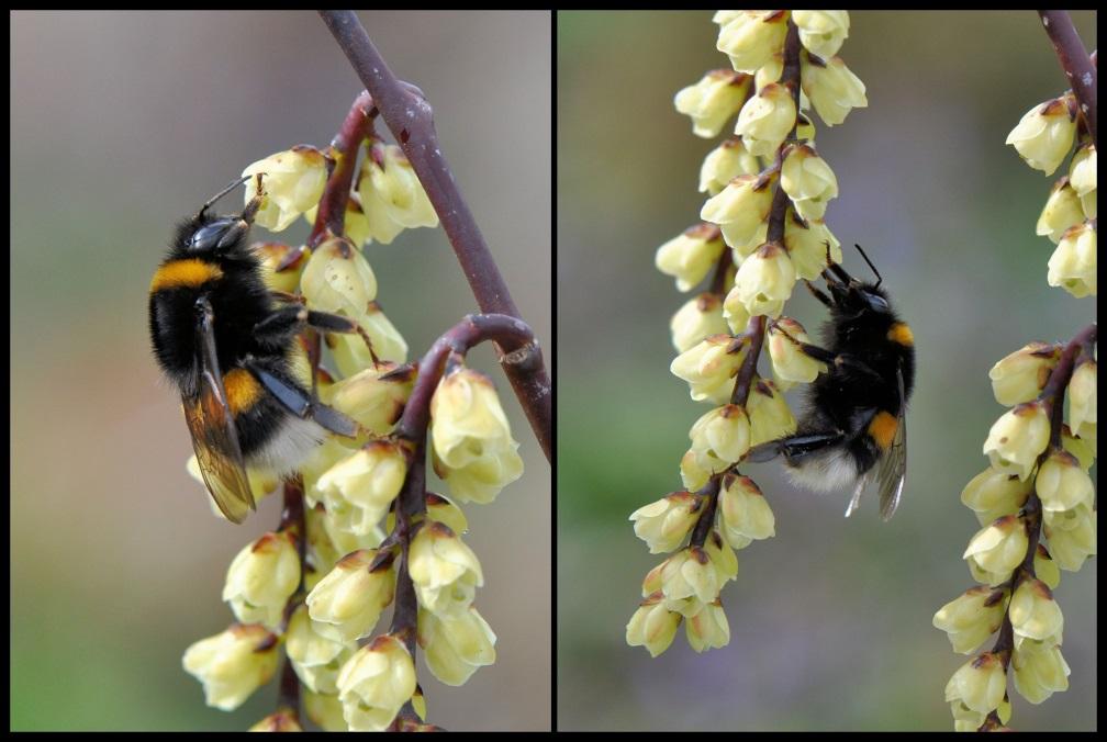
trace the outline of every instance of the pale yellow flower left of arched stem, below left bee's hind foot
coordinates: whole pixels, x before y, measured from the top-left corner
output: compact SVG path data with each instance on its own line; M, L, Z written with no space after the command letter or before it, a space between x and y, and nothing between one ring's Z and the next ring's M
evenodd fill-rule
M318 488L335 516L349 505L350 521L343 530L370 533L389 512L407 475L403 448L386 439L372 440L328 469Z

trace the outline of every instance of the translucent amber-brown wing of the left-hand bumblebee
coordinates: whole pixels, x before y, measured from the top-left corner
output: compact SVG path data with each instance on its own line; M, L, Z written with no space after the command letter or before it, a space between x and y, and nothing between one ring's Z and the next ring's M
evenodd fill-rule
M184 397L182 404L208 492L227 520L241 523L247 513L256 509L254 492L219 373L210 304L205 302L203 310L196 327L199 393L196 397Z

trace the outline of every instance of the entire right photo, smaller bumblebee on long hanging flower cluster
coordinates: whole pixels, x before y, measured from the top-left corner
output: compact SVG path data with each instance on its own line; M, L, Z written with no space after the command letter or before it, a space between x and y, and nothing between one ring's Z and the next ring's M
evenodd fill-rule
M556 728L1095 730L1094 13L556 33Z

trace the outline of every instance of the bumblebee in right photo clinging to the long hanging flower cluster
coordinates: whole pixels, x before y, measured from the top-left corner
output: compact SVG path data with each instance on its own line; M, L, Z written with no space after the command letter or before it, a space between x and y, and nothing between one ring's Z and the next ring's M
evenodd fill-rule
M821 276L829 295L810 282L808 290L830 310L824 327L826 347L800 343L806 355L827 365L808 387L795 435L751 449L747 460L783 456L792 478L814 490L853 485L846 508L857 510L861 492L879 485L880 515L888 520L903 494L907 470L907 401L914 385L914 336L891 307L882 279L862 283L830 261Z

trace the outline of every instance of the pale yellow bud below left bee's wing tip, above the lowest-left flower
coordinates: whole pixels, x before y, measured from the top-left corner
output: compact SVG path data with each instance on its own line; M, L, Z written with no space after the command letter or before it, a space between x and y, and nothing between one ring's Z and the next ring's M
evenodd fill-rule
M292 533L267 533L238 553L227 569L223 599L244 624L280 626L289 597L300 585L300 555Z

